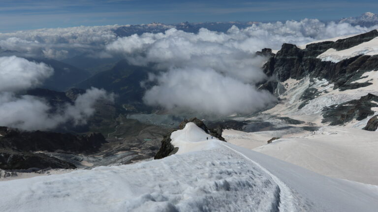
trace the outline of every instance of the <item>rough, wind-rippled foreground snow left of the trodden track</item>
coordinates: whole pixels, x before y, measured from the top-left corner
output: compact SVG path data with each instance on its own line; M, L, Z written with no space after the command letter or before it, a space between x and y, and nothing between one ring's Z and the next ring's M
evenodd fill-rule
M212 150L0 182L3 212L277 211L280 188L235 152Z

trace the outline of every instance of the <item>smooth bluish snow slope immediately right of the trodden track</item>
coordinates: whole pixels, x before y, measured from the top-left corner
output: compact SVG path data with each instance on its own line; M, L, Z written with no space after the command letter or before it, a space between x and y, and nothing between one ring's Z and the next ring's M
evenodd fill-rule
M290 187L294 195L309 200L309 210L305 211L377 212L378 186L325 177L259 152L227 146L267 169Z

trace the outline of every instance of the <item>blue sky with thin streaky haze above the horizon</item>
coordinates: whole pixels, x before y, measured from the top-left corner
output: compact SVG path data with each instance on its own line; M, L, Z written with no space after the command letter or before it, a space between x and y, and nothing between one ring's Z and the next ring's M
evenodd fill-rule
M0 0L0 31L151 22L333 20L377 0Z

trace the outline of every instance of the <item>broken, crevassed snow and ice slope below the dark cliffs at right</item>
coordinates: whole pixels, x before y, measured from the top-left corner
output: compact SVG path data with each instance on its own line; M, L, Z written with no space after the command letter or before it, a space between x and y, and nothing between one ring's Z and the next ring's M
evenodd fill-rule
M263 113L277 115L281 117L289 117L292 119L312 122L317 125L328 125L327 123L321 123L322 109L334 104L341 104L353 99L359 99L361 96L365 96L368 93L378 95L378 71L372 70L363 73L361 79L355 81L355 83L370 82L372 85L361 87L353 90L340 91L334 90L334 85L328 82L326 79L318 80L314 79L314 82L310 82L308 77L301 80L288 79L284 82L280 82L285 88L283 93L279 93L281 100L273 108L270 108ZM319 92L319 96L310 100L304 107L298 109L303 100L302 94L308 88L316 89ZM367 121L367 120L365 120ZM359 128L363 128L360 126Z

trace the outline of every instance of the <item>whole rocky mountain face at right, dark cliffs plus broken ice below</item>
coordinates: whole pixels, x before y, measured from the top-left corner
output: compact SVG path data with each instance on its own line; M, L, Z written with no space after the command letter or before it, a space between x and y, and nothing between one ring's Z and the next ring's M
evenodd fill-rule
M270 77L270 80L262 83L259 88L270 91L279 97L279 100L286 102L288 105L285 107L290 107L293 104L289 104L289 100L283 96L288 92L296 92L291 93L299 97L296 97L295 100L297 108L291 109L292 112L308 114L309 111L316 112L317 109L314 107L321 107L319 109L322 114L322 123L339 125L353 120L367 119L375 115L372 108L377 107L378 99L377 93L368 93L371 89L365 89L365 87L376 86L373 85L374 79L368 78L369 76L366 74L378 70L378 55L366 55L361 52L354 57L340 61L322 60L318 56L330 49L349 51L350 48L377 37L378 31L373 30L336 41L310 43L305 47L283 44L281 50L276 54L273 54L270 49L263 49L257 54L268 58L263 66L263 71ZM297 83L288 85L290 80ZM305 81L309 82L307 86L304 84ZM320 82L325 82L325 84ZM316 87L316 85L318 86ZM291 88L289 88L290 86ZM295 90L301 86L303 91ZM287 91L287 89L291 90ZM331 91L335 92L325 96ZM373 89L373 91L375 90ZM347 97L349 99L343 102L343 99L338 99L341 95L349 96ZM318 103L314 103L315 100ZM312 101L312 106L305 108ZM336 103L330 104L332 101L336 101ZM324 106L320 106L322 104ZM302 108L306 111L301 112Z

